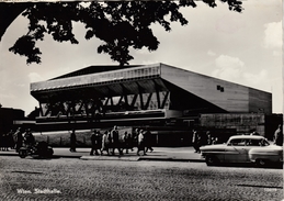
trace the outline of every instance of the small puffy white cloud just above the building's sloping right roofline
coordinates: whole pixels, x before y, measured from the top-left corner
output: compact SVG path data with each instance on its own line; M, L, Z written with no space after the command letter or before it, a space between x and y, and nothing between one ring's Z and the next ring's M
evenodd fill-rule
M229 81L238 81L245 68L245 64L237 57L220 55L215 59L217 69L212 72L213 77Z

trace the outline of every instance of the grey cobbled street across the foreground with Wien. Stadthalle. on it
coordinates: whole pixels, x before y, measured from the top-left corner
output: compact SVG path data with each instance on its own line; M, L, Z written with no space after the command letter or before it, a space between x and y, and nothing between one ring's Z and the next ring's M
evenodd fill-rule
M1 200L281 201L283 169L1 156Z

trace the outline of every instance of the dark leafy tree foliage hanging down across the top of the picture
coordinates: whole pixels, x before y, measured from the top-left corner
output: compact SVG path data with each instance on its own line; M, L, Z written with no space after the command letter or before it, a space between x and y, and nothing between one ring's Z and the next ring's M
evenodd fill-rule
M242 11L239 0L220 1L228 3L229 10ZM203 2L212 8L217 5L215 0ZM194 0L26 3L22 14L30 20L29 32L9 51L26 56L27 64L39 64L42 52L35 46L36 42L50 34L57 42L78 44L72 22L81 22L86 26L86 40L95 36L103 41L98 53L109 54L112 60L126 65L133 59L129 47L146 47L150 52L158 48L159 41L150 29L152 23L160 24L166 31L171 30L170 22L188 24L179 11L182 7L195 8L196 4Z

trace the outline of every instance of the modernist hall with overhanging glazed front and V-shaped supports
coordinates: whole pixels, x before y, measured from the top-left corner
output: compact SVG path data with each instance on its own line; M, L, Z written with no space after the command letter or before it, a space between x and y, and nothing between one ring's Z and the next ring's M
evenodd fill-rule
M90 66L31 83L31 94L41 108L37 124L50 130L184 125L205 113L272 113L269 92L164 64Z

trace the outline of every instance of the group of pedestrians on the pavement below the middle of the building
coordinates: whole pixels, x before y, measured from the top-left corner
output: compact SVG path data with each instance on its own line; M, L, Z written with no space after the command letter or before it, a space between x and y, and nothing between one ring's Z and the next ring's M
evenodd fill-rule
M107 155L115 155L117 149L120 155L128 154L129 150L134 150L137 147L137 155L146 155L148 150L152 152L151 147L151 133L150 131L136 129L133 133L126 131L121 136L115 125L112 130L105 131L103 135L99 131L94 131L91 135L92 147L90 155L103 155L106 152Z

